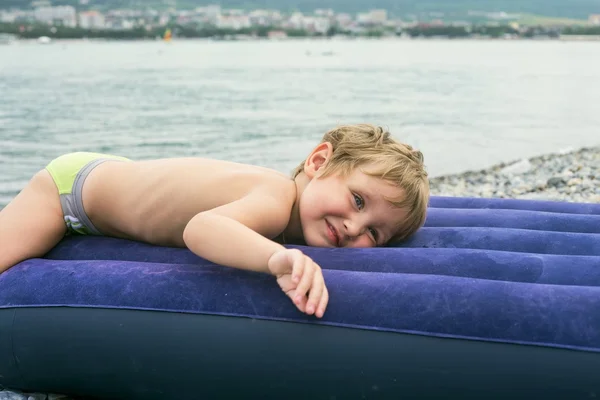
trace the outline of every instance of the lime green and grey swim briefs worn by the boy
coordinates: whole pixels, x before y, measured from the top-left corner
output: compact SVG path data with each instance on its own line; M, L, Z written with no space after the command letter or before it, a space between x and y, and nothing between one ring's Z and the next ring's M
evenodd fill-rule
M83 209L83 183L94 168L105 161L130 161L101 153L69 153L52 160L46 170L58 187L67 233L101 235Z

